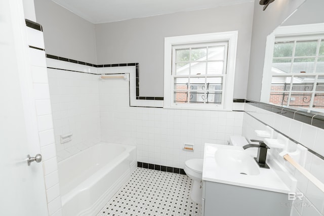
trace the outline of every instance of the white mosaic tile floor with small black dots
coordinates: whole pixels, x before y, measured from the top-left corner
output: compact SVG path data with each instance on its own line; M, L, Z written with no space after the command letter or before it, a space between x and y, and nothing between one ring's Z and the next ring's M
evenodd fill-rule
M186 175L137 167L97 216L200 216L201 205L190 199L191 184Z

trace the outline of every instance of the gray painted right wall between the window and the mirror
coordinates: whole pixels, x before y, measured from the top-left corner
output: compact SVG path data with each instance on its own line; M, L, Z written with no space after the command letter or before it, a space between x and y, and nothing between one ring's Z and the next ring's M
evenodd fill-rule
M312 1L312 0L308 0ZM247 98L260 101L266 37L305 0L275 1L262 11L255 1Z

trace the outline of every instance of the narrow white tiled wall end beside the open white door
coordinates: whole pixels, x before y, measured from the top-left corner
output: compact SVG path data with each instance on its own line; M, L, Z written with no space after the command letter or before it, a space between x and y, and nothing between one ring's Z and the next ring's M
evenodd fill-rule
M28 45L44 49L43 32L29 27L26 29ZM35 99L49 215L62 216L46 56L44 51L33 48L29 48L29 54L33 87L30 91Z

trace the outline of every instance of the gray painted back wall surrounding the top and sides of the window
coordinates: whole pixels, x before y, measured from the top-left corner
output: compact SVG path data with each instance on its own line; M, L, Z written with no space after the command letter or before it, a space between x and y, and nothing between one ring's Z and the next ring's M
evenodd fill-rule
M139 62L140 96L163 97L164 37L238 30L234 98L246 98L253 8L251 2L97 24L98 64Z

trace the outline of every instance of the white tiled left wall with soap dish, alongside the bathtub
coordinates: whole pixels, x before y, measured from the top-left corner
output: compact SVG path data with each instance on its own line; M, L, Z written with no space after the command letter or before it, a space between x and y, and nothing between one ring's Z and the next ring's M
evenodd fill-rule
M57 160L61 161L100 141L99 77L58 69L48 69L48 77ZM69 133L72 140L62 144L60 136Z

